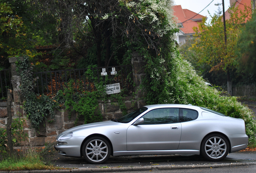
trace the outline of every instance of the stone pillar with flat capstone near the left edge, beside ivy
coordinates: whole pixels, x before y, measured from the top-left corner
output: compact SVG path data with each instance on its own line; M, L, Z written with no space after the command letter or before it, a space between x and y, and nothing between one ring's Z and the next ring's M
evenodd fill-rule
M21 61L24 61L24 58L23 57L19 57L21 59ZM17 71L16 71L16 64L15 62L17 61L17 57L12 57L12 58L9 58L9 62L10 62L10 68L11 68L11 75L12 75L12 78L11 78L11 81L12 81L12 88L13 88L13 91L12 91L12 95L13 95L13 99L14 99L14 104L15 105L19 105L21 104L20 102L20 99L19 99L19 91L20 91L20 84L21 84L21 76L18 75Z

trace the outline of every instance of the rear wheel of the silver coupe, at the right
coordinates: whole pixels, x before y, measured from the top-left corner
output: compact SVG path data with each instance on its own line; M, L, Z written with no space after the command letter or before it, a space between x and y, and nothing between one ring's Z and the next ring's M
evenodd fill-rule
M212 134L205 137L201 145L202 156L209 161L221 161L229 153L229 142L223 135Z

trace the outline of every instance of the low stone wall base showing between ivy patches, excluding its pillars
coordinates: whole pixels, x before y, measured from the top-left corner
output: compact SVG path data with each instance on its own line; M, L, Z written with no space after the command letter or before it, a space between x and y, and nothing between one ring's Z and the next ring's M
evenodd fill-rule
M118 106L116 100L114 101L99 101L98 110L102 115L103 121L108 121L113 118L122 117L122 111ZM138 107L143 106L142 101L135 100L134 97L126 97L124 103L127 108L127 112L130 113L137 109ZM68 130L72 127L75 127L74 121L77 118L75 112L71 113L69 116L69 111L65 110L65 107L62 107L60 110L55 110L55 118L51 119L48 116L44 123L39 126L39 129L31 128L29 119L25 121L25 132L29 135L29 143L32 146L42 146L46 142L55 143L56 137L58 134L62 133L65 130ZM98 111L96 111L98 112ZM95 114L96 114L95 112ZM13 118L23 117L23 109L20 106L15 106L14 102L12 103L12 116ZM25 118L26 116L24 116ZM76 125L82 125L83 116L80 116ZM6 102L0 102L0 128L5 128L7 124L7 104Z

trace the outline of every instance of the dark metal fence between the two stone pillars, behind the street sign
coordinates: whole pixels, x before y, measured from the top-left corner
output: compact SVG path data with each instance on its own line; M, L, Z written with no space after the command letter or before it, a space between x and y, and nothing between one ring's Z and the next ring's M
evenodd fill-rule
M56 94L59 90L63 90L71 79L73 79L74 89L82 85L84 91L92 91L95 89L95 81L88 76L97 78L99 82L105 80L104 74L107 74L110 79L108 84L120 83L121 89L127 89L128 93L133 91L132 66L130 65L90 68L92 74L85 75L87 70L88 68L35 72L33 73L33 77L36 78L35 93Z

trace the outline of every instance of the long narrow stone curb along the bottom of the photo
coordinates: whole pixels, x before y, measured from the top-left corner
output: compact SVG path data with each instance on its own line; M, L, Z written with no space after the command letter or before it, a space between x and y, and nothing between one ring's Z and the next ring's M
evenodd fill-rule
M31 170L31 171L11 171L12 173L103 173L103 172L126 172L126 171L152 171L152 170L171 170L171 169L198 169L198 168L218 168L231 166L250 166L251 163L221 163L212 165L171 165L171 166L146 166L146 167L109 167L109 168L79 168L79 169L57 169L57 170ZM0 171L8 173L10 171Z

